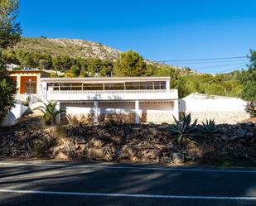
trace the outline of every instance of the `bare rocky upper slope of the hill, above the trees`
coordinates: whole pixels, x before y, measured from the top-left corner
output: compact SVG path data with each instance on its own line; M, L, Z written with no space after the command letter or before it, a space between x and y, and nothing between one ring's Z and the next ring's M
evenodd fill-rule
M22 37L15 50L27 50L49 55L69 55L72 57L95 58L100 60L115 60L121 53L109 46L94 41L53 38Z

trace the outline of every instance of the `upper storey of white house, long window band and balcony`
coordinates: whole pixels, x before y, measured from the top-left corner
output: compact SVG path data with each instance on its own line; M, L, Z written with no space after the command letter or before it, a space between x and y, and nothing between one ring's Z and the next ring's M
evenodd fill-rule
M138 81L138 79L140 79ZM45 82L43 96L48 100L152 100L176 99L177 90L169 89L169 78L94 79L93 82Z

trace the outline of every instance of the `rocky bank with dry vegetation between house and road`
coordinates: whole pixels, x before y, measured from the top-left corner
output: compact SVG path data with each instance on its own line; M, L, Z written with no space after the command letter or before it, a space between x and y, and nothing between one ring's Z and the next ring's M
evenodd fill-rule
M256 123L218 125L220 137L203 137L198 127L193 141L177 144L169 125L107 122L35 129L6 128L0 132L0 158L47 157L133 162L212 164L220 156L256 162ZM224 162L225 163L225 162ZM216 162L216 164L219 164ZM226 163L225 163L226 165Z

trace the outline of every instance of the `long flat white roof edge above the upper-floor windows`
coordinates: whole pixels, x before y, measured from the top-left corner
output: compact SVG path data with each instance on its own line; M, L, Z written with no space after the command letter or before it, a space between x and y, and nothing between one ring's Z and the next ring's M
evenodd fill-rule
M170 80L168 76L153 77L63 77L63 78L41 78L41 82L125 82L125 81L151 81Z

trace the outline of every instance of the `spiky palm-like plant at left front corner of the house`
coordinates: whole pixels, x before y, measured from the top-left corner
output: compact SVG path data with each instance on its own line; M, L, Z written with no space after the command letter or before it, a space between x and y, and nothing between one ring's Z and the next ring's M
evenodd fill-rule
M44 113L43 118L46 121L46 125L50 125L51 123L54 123L56 120L56 116L59 113L65 113L65 108L56 109L57 102L50 101L48 103L42 102L44 105L41 105L37 108L34 108L33 110L40 110L42 113Z

